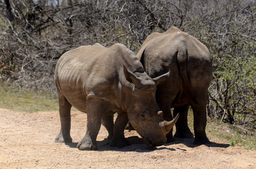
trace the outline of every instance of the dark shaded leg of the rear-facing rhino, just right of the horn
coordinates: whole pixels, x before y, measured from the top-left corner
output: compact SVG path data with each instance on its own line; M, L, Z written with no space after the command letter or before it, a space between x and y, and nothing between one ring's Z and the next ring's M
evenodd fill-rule
M189 107L190 105L186 104L184 106L174 108L173 116L176 116L178 113L180 114L180 118L178 119L177 123L175 123L176 132L174 134L174 137L180 137L180 138L194 137L194 135L190 131L190 128L187 125L187 111Z

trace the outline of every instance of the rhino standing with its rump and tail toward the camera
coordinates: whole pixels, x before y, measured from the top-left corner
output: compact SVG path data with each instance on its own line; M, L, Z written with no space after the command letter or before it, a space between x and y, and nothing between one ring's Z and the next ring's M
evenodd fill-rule
M194 144L209 143L206 137L207 91L212 78L209 50L194 37L177 27L163 33L153 33L146 38L136 55L150 77L158 77L170 70L170 76L156 90L156 101L163 111L163 119L173 119L180 113L175 124L175 137L191 138L187 126L187 111L192 107L194 114ZM173 130L167 134L173 141Z

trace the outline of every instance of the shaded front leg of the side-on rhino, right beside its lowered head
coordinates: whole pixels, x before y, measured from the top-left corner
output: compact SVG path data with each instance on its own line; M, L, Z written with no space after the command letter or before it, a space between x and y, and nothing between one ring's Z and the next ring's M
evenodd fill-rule
M114 125L114 135L110 142L110 146L117 146L121 148L123 146L128 146L127 139L124 137L124 128L128 123L127 112L119 112Z

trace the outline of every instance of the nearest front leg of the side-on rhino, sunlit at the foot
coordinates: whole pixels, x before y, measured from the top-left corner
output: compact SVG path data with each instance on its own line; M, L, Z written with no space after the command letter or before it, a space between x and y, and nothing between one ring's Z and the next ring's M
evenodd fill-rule
M105 108L104 101L102 99L89 98L86 103L87 113L87 129L86 135L81 142L77 144L77 148L80 150L96 150L98 146L96 144L96 138L100 130L101 115Z

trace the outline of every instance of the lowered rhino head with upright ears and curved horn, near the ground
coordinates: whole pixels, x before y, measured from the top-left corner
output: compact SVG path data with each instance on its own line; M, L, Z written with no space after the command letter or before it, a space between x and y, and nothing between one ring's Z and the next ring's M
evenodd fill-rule
M165 135L179 117L170 122L163 120L163 112L156 103L156 87L168 78L169 72L152 79L144 71L132 73L124 68L124 75L129 82L126 102L130 123L148 146L165 144Z

